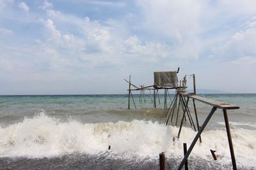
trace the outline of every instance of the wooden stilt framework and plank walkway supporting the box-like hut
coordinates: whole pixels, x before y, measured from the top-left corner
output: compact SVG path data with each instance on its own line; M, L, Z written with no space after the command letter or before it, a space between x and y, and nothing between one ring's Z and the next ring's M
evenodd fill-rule
M178 72L179 72L179 69L178 69L177 73ZM182 108L183 115L182 115L182 120L180 122L179 133L178 133L177 138L179 138L179 136L180 136L180 132L181 132L181 129L182 129L183 122L184 122L184 120L186 120L186 115L188 116L188 119L189 119L189 122L190 122L191 126L193 126L195 131L196 131L196 127L197 127L197 131L198 131L195 138L193 139L191 145L189 146L188 151L184 155L184 159L182 159L182 162L180 162L178 170L181 170L182 167L184 166L184 164L186 164L186 162L188 161L189 154L192 152L192 150L193 150L193 148L196 144L196 141L198 141L198 139L200 139L200 143L202 142L201 134L204 131L206 125L208 124L208 122L211 119L214 112L217 109L223 110L223 116L224 116L224 120L225 120L226 131L227 131L227 138L228 138L228 145L229 145L229 149L230 149L230 156L231 156L231 160L232 160L232 166L233 166L233 169L236 170L237 169L237 167L236 167L236 158L235 158L235 154L234 154L232 136L231 136L231 133L230 133L227 110L237 110L237 109L239 109L239 106L236 106L234 104L228 104L228 103L223 103L223 102L219 102L219 101L214 101L214 100L211 100L211 99L206 99L206 98L200 97L200 96L196 96L195 74L192 74L192 75L193 75L193 90L194 90L193 93L186 93L186 89L187 89L187 87L186 87L186 76L184 77L183 81L180 81L179 87L172 87L172 88L170 88L170 87L157 87L156 85L152 85L152 86L148 86L148 87L143 87L141 85L141 87L136 87L136 85L133 85L131 83L131 76L129 77L129 81L124 79L125 81L127 81L127 83L129 83L128 109L130 109L130 97L132 97L132 91L133 90L140 90L141 94L143 94L143 95L145 94L144 90L154 90L153 103L154 103L154 108L156 108L156 96L158 94L158 90L159 89L164 89L164 109L167 109L167 107L166 107L167 106L167 103L166 103L167 92L168 92L169 89L175 89L175 92L176 92L175 97L174 97L173 100L171 99L170 107L168 108L168 110L165 113L165 117L168 116L167 121L166 121L166 125L168 125L168 121L170 120L171 115L172 115L172 117L171 117L171 122L172 122L173 115L174 115L174 110L175 110L175 108L177 108L177 105L178 105L177 117L176 117L176 122L175 122L176 126L177 126L177 122L178 122L180 108ZM131 89L131 86L134 87L135 89ZM170 94L169 94L169 96L170 96ZM158 97L159 97L159 94L158 94ZM195 127L193 118L192 118L191 113L190 113L189 108L188 108L189 99L193 100L193 108L194 108L194 111L195 111L195 118L196 118L196 127ZM134 103L133 97L132 97L132 101ZM207 118L205 118L205 121L202 124L202 127L200 127L200 125L198 123L195 101L200 101L202 103L205 103L205 104L208 104L208 105L212 106L212 109L211 109L210 113L208 114ZM141 102L141 98L140 98L140 102ZM135 103L134 103L134 107L136 108Z

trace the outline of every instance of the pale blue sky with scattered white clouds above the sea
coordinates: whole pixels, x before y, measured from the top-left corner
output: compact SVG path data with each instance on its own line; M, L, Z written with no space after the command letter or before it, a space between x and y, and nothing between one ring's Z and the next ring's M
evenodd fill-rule
M178 67L256 93L256 1L0 0L0 95L126 94Z

